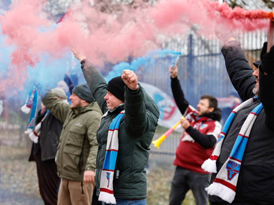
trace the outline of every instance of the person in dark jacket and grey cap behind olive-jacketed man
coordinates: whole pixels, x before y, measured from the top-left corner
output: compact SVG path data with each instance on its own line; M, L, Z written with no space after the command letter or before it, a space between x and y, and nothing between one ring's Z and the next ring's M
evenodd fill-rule
M61 88L52 89L51 92L59 101L67 103L67 95ZM33 143L29 161L35 161L39 190L45 205L56 205L60 178L57 175L55 155L59 144L63 123L53 114L47 112L47 108L41 104L41 110L37 114L36 126L39 124L39 131L35 126L36 137L40 132L38 143ZM35 141L37 142L37 141Z

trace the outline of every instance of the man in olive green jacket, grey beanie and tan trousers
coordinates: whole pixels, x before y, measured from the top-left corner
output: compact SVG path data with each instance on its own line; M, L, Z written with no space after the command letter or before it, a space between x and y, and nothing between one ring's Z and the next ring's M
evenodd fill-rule
M62 178L58 205L90 205L98 151L96 132L102 112L86 83L76 86L69 99L71 105L51 91L42 97L46 108L64 123L56 154L58 176Z

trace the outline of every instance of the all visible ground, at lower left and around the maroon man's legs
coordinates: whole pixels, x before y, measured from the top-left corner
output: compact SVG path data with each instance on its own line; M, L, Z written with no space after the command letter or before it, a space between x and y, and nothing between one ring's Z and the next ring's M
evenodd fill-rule
M36 164L28 162L29 147L0 147L0 204L43 205L38 187ZM150 159L152 161L153 159ZM170 161L170 160L168 160ZM174 173L172 161L150 162L147 174L147 204L166 205ZM192 192L188 192L183 205L194 205Z

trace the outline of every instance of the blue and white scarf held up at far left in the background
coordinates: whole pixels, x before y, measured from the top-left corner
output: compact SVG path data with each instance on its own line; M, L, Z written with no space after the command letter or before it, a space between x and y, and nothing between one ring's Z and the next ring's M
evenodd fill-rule
M38 93L36 87L33 85L29 91L29 95L24 106L21 107L22 112L29 114L31 111L31 116L29 118L28 129L25 131L25 134L30 134L34 128L36 113L37 113L37 104L38 104Z

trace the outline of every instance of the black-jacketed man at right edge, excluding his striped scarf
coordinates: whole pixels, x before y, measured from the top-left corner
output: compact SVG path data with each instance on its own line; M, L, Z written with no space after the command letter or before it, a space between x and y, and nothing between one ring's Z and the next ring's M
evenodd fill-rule
M217 173L228 159L231 149L249 113L259 103L263 109L259 112L245 147L237 181L233 205L273 205L274 204L274 47L266 54L267 44L261 52L261 65L253 71L247 62L240 42L232 32L222 34L216 29L216 35L225 44L222 53L231 83L242 101L254 96L257 101L239 110L235 115L224 138L220 155L216 161ZM211 183L217 173L211 176ZM218 196L209 195L211 205L228 205Z

